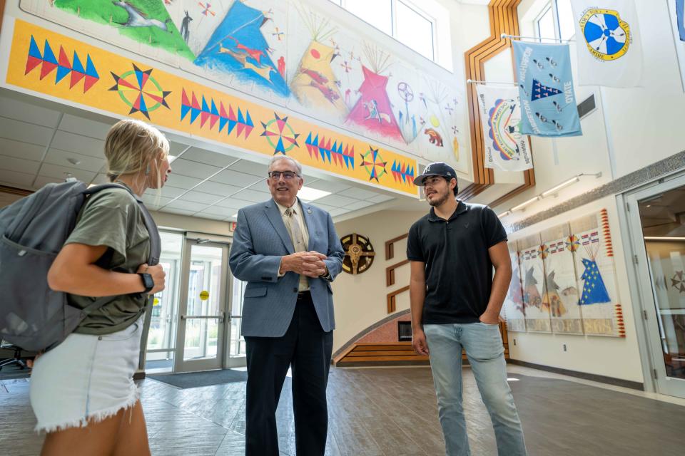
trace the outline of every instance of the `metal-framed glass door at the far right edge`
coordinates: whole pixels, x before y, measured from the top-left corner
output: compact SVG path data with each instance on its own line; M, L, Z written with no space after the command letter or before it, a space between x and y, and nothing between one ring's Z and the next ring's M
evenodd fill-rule
M685 177L632 195L629 207L656 388L685 398Z

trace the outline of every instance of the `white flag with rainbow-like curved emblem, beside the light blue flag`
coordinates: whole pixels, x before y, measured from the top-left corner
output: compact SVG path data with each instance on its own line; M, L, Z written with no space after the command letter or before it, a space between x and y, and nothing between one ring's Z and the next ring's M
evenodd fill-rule
M483 85L477 90L485 142L484 166L504 171L532 168L528 137L521 134L519 90Z

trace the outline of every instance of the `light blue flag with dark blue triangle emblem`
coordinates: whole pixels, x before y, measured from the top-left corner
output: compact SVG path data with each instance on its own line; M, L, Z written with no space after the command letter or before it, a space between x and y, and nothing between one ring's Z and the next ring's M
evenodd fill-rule
M523 135L582 135L568 44L514 41Z

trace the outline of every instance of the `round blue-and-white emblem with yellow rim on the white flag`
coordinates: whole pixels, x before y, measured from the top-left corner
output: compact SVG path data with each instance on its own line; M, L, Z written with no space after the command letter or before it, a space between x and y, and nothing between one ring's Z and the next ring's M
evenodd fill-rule
M630 26L621 21L618 11L588 9L579 22L587 48L601 61L613 61L628 52L631 43Z

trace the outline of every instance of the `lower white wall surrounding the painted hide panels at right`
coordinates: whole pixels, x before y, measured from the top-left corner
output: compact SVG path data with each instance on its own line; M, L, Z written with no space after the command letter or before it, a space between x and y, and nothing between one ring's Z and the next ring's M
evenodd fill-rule
M536 234L544 229L568 222L587 214L607 209L612 244L621 246L621 232L614 197L606 197L583 207L552 217L509 235L509 240ZM626 258L622 249L614 249L620 304L623 308L626 337L565 336L547 333L514 333L509 331L509 357L528 363L541 364L572 371L606 375L642 382L639 346L636 336L634 311L631 304ZM516 341L516 345L514 345ZM564 352L563 345L567 351Z

